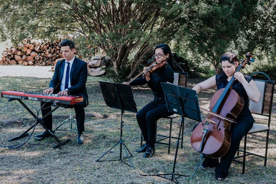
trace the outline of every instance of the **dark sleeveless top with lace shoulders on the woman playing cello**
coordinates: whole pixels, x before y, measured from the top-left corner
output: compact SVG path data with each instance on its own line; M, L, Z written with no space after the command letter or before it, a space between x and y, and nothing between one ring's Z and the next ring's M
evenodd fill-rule
M245 75L245 74L244 74L244 78L248 83L253 79L252 77ZM216 75L217 90L219 90L221 88L225 88L227 84L228 84L228 81L226 79L223 80L222 74ZM233 82L232 89L234 89L241 97L244 98L244 107L242 108L241 112L237 116L236 121L238 122L239 120L247 120L247 121L255 122L255 120L248 108L249 99L248 99L248 95L247 95L243 85L238 80L235 80Z

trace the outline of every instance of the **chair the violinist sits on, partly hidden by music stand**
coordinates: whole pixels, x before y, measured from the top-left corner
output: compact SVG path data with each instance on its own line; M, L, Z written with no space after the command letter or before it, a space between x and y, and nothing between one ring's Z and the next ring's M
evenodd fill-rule
M187 87L187 76L188 73L187 72L174 72L174 81L173 83L182 87ZM169 135L159 135L157 134L157 121L155 121L156 124L156 137L155 137L155 143L158 144L165 144L168 145L168 154L170 153L170 143L171 143L171 138L173 139L177 139L178 137L172 137L171 136L171 132L172 132L172 124L173 124L173 119L174 118L178 118L180 117L180 115L178 114L173 114L171 116L167 116L165 117L166 119L170 119L170 132ZM183 129L184 129L184 124L181 127L182 128L182 135L181 135L181 148L183 148ZM162 137L161 139L157 139L157 137ZM169 139L169 142L161 142L164 141L166 139ZM141 133L141 147L143 145L143 134Z

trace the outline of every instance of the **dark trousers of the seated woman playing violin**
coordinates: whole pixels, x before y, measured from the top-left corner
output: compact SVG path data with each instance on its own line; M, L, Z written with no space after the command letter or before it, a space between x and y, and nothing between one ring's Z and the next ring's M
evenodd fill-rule
M168 112L164 97L155 97L154 101L151 101L136 114L138 125L148 147L155 147L155 121L172 114L174 113Z

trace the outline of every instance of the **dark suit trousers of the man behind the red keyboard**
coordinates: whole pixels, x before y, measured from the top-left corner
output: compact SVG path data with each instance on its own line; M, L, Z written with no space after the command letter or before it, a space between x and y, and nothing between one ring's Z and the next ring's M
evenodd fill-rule
M45 105L44 105L45 104ZM42 117L45 116L46 114L48 114L51 111L51 105L53 103L49 103L49 102L41 102L41 107L43 106L43 108L41 109L41 114ZM79 102L77 104L74 105L62 105L61 107L64 108L74 108L75 109L75 113L76 113L76 122L77 122L77 129L78 132L83 132L84 131L84 120L85 120L85 111L84 111L84 101ZM52 114L46 116L43 119L43 124L45 125L45 127L47 129L52 129Z

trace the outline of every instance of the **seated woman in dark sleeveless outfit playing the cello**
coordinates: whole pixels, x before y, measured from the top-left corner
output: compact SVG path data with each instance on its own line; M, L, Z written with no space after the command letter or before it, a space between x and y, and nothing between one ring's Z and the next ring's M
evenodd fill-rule
M248 133L255 122L249 108L249 99L258 102L260 99L260 91L252 77L235 72L239 65L237 56L232 52L226 52L221 56L221 65L223 73L212 76L206 81L203 81L193 87L198 94L200 91L217 87L217 90L225 88L227 83L234 75L235 81L233 82L232 89L234 89L244 99L244 106L237 116L236 122L231 125L231 143L228 152L221 157L220 162L218 158L205 157L202 168L215 167L215 177L217 180L222 181L228 175L228 170L231 162L239 148L241 139ZM249 97L249 99L248 99Z

